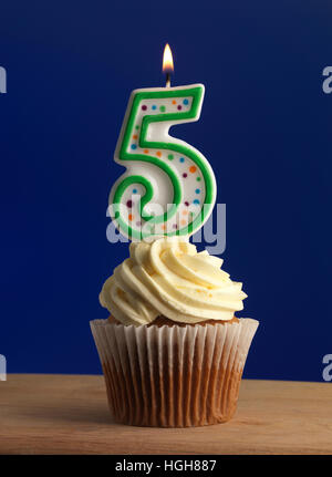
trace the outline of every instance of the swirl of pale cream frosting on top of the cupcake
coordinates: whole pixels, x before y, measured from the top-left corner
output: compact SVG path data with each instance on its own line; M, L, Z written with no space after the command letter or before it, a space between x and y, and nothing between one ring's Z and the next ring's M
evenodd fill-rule
M159 315L181 323L228 321L243 308L242 283L220 269L220 258L197 252L185 238L132 242L129 252L100 293L123 324L148 324Z

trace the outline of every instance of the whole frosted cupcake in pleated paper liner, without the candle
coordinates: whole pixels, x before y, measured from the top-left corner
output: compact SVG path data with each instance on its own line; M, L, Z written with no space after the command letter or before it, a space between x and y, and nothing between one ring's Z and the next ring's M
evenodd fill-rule
M247 297L222 260L183 237L133 242L100 293L111 315L91 321L117 423L188 427L237 408L258 321L236 318Z

